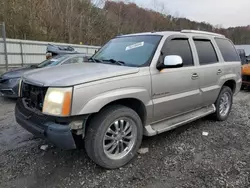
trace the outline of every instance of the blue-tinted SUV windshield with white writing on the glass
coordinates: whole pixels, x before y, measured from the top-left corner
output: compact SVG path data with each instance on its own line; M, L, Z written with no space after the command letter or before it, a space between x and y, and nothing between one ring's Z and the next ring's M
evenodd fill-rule
M125 66L143 66L151 60L160 40L159 35L118 37L104 45L92 59L101 62L111 60L110 63L119 61Z

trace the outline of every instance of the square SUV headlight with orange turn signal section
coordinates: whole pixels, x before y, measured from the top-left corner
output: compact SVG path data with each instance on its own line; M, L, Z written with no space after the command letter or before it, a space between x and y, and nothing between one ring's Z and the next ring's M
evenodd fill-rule
M43 103L43 113L69 116L71 112L72 87L48 88Z

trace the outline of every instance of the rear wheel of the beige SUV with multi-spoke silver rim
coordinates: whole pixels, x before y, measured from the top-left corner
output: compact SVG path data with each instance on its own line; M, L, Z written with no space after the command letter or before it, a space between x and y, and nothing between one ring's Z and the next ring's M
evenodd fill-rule
M227 87L223 86L218 99L215 102L216 112L214 118L218 121L224 121L228 118L233 104L233 92Z

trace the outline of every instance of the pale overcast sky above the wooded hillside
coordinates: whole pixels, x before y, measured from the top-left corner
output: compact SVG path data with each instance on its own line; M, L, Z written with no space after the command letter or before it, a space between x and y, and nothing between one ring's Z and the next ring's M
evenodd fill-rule
M223 27L250 25L250 0L130 0L139 6ZM156 3L155 3L156 2Z

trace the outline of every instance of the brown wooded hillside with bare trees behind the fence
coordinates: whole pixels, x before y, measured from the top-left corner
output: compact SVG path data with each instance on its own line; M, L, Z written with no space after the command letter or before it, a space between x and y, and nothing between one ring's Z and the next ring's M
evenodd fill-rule
M126 33L198 29L250 44L250 26L220 28L138 7L134 3L91 0L0 0L0 22L8 38L102 45ZM104 3L103 8L99 8ZM162 9L163 10L163 9Z

